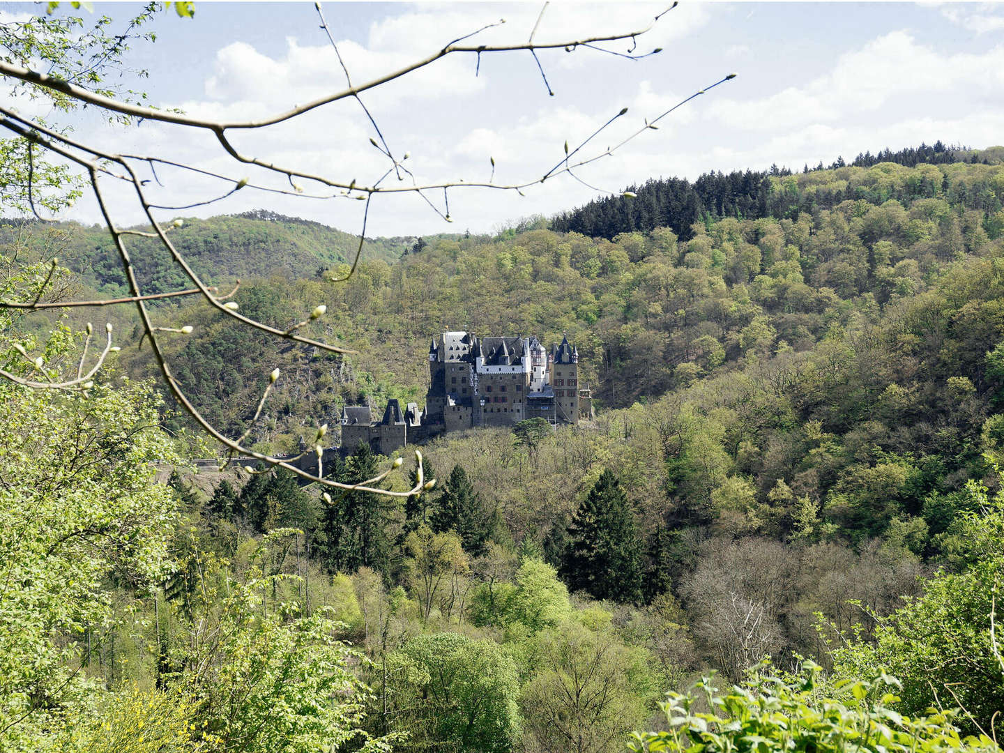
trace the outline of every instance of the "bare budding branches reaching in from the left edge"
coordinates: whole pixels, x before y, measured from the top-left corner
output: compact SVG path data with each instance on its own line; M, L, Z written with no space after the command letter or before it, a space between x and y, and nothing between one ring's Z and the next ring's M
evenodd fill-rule
M182 14L183 11L190 11L190 4L180 3L176 5L178 6L180 14ZM677 4L674 3L672 7L676 7L676 5ZM547 5L545 3L540 16L538 16L536 23L534 24L533 29L530 31L529 37L525 42L503 45L475 43L473 39L478 34L489 28L500 25L503 21L489 23L470 34L466 34L449 41L442 47L432 51L428 56L416 60L409 65L386 73L385 75L378 76L371 80L356 83L353 81L348 67L345 65L341 53L338 50L338 46L334 41L334 37L330 33L321 6L318 3L316 4L316 10L321 28L327 35L334 51L337 53L338 61L341 65L342 72L344 73L345 87L338 91L333 91L320 96L305 104L295 105L271 116L253 120L212 120L177 111L144 106L128 101L124 98L116 98L113 95L113 92L109 92L107 90L95 90L92 87L88 87L86 85L86 76L62 77L50 75L45 72L29 69L22 64L18 64L18 61L14 60L11 56L4 57L0 55L0 75L2 75L7 81L14 82L20 86L27 86L35 92L45 92L48 96L58 98L61 102L67 103L67 106L75 104L96 108L99 112L112 119L129 121L140 118L144 120L170 123L189 132L209 133L215 138L222 154L228 156L235 167L240 167L243 170L247 166L251 166L258 169L264 175L271 177L278 176L288 183L288 188L276 188L274 186L265 185L261 182L252 182L249 178L242 177L240 174L233 175L224 174L222 172L207 171L194 165L168 160L156 154L115 154L107 150L98 149L92 144L85 143L84 141L70 138L60 130L49 127L38 118L32 118L20 114L10 107L0 107L0 126L17 137L20 140L18 143L23 148L24 160L27 164L27 175L25 177L27 203L30 206L31 211L36 217L42 219L38 211L39 202L37 201L37 192L39 187L36 185L40 174L39 166L42 163L39 162L36 153L42 153L49 158L56 160L56 162L61 161L70 166L75 166L75 169L82 173L85 183L88 185L89 190L92 192L97 202L104 224L114 242L114 247L118 255L118 262L122 272L124 273L126 279L129 282L131 291L131 295L124 298L87 301L60 301L57 303L42 302L40 299L36 298L34 301L5 300L0 302L0 306L6 308L38 310L53 305L135 305L142 323L143 336L149 340L154 358L160 370L160 374L169 393L173 396L175 401L177 401L178 405L192 416L196 424L202 430L227 448L230 457L237 455L251 457L265 463L268 467L281 466L289 469L293 473L308 481L315 481L324 486L335 487L342 490L364 489L378 494L404 497L420 491L424 486L431 485L434 482L427 482L424 478L422 471L422 457L418 452L416 452L418 463L417 482L415 487L409 491L388 491L374 487L374 485L378 484L387 475L387 473L393 469L389 469L388 472L381 474L373 479L368 479L360 484L354 485L342 484L323 478L323 469L320 466L322 452L319 443L324 436L326 427L321 427L320 431L318 431L318 444L316 445L316 448L310 448L306 451L307 453L317 453L318 469L316 474L303 471L295 465L292 465L290 461L282 461L278 458L255 452L247 447L244 441L247 439L251 428L261 416L265 401L268 398L272 385L274 385L276 380L280 376L278 369L270 371L267 374L267 378L264 378L265 369L263 369L263 379L267 379L267 383L263 390L262 399L247 431L245 431L239 438L234 439L226 436L222 431L202 416L189 396L185 393L178 379L175 376L171 368L171 364L168 362L165 349L162 346L163 336L172 333L186 333L185 328L156 326L153 323L149 308L149 303L153 300L174 296L202 296L210 306L218 311L220 315L230 317L235 324L253 327L268 335L304 345L310 345L321 350L336 353L351 351L330 343L304 336L302 334L303 328L307 324L324 315L326 311L326 306L324 304L318 304L306 315L291 317L291 323L286 327L270 326L262 321L241 313L238 304L235 301L230 300L233 292L235 291L228 294L221 294L218 288L209 284L199 274L197 274L185 256L179 252L178 248L172 242L172 225L165 225L157 218L156 214L159 210L182 210L206 206L214 202L221 201L222 199L225 199L241 190L257 190L271 194L304 198L342 198L346 200L358 200L360 202L364 202L362 222L358 234L358 245L355 249L352 264L346 275L332 280L343 281L354 272L356 264L358 263L366 231L366 220L368 218L369 209L374 201L403 194L418 195L426 201L433 212L446 221L452 221L452 217L450 215L450 193L454 191L481 188L499 191L515 191L522 195L524 190L529 189L536 184L553 180L559 176L568 176L574 180L584 183L578 175L578 171L581 168L595 163L596 161L616 152L634 139L646 133L648 130L657 128L657 123L660 120L667 117L678 107L734 76L734 74L729 74L711 85L694 92L665 112L659 113L651 119L647 118L644 126L615 146L607 147L605 149L598 149L594 147L593 140L595 137L607 129L614 120L623 116L628 111L626 108L620 109L605 122L599 124L587 139L582 141L577 146L569 149L566 143L564 154L557 159L553 167L545 171L542 175L529 177L518 183L496 183L494 181L494 160L491 160L492 172L488 181L465 181L463 179L456 179L426 184L419 182L413 172L406 166L406 161L409 155L407 153L399 154L389 146L388 141L385 139L384 132L381 130L370 110L363 101L362 97L364 94L391 81L400 79L417 70L433 65L437 61L451 55L474 55L477 56L480 64L482 55L518 52L529 52L533 56L537 63L541 78L550 92L550 85L547 82L544 68L537 55L539 50L563 48L570 52L581 47L598 52L609 53L621 58L638 60L661 51L659 48L644 53L637 51L638 38L648 32L657 22L659 22L665 13L672 10L671 7L663 11L653 18L651 23L642 28L618 33L601 33L594 36L571 39L562 42L542 43L535 41L534 37L541 25L546 7ZM620 41L630 41L630 49L626 51L619 51L609 47L609 44ZM102 54L105 54L106 56L113 55L114 48L112 47L110 50L107 50ZM383 158L386 159L386 172L384 172L383 175L371 183L357 184L354 179L346 180L341 177L310 173L294 169L292 167L283 166L272 162L265 157L245 154L237 148L233 141L235 134L243 134L252 131L264 131L280 123L292 121L295 118L319 107L349 99L354 100L358 104L363 116L366 118L372 133L374 134L373 138L370 139L370 143L383 155ZM154 181L157 183L161 182L157 172L158 168L168 168L176 174L180 173L182 175L192 176L193 178L198 178L199 180L209 179L219 185L219 189L214 195L206 196L205 198L201 198L198 201L192 201L191 203L183 206L158 205L148 195L148 184ZM151 178L147 178L148 174ZM386 181L390 178L395 178L397 181L393 183L386 183ZM149 231L131 230L119 227L114 219L115 208L111 205L107 198L106 187L109 183L118 183L128 187L131 195L142 209L144 217L147 222L149 222L151 228ZM310 190L307 190L305 186L310 187ZM175 224L177 225L179 222L180 221L175 221ZM191 280L191 287L184 290L175 290L156 294L145 292L143 286L137 279L136 269L131 256L131 241L137 236L157 240L163 248L169 252L173 263L177 265L177 267L180 268ZM53 264L53 268L55 268L55 264ZM101 351L96 362L92 364L91 368L84 368L86 352L81 354L75 376L71 374L67 379L62 374L56 373L53 369L47 369L44 364L38 363L38 357L40 356L33 358L26 352L24 353L24 357L27 359L28 364L34 368L34 370L39 372L38 378L27 379L10 372L3 372L3 375L19 382L20 384L34 388L86 390L91 386L92 378L97 372L97 369L100 367L104 358L111 350L113 350L114 346L111 345L110 328L108 328L107 334L107 345L104 350ZM89 342L89 333L87 342Z

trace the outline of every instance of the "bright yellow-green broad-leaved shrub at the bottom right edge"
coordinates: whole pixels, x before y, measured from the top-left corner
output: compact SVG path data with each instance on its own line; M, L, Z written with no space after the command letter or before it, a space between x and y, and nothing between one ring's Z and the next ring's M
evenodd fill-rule
M899 681L888 675L820 687L819 667L805 663L790 680L759 667L742 685L719 691L705 678L699 697L670 693L661 704L669 729L634 734L642 751L984 751L987 738L962 738L951 716L909 717L893 710ZM704 704L701 703L704 702ZM700 711L706 705L707 711Z

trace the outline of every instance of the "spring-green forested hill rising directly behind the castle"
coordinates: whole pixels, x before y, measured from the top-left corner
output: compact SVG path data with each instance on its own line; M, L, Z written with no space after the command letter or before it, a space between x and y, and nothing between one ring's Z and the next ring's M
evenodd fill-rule
M276 451L295 447L304 427L315 418L333 420L345 403L421 403L429 338L455 328L536 333L548 341L567 332L581 354L583 381L610 409L654 401L722 370L748 371L774 356L831 347L836 337L891 318L926 320L935 314L915 308L930 304L941 307L935 329L910 324L909 331L926 362L952 364L951 373L939 366L931 394L954 374L981 394L987 389L984 354L1001 334L984 315L989 308L967 328L960 354L943 354L938 343L957 336L945 322L969 316L946 280L965 270L992 274L986 265L1004 252L1004 166L882 163L768 181L779 195L843 194L852 186L867 198L797 220L696 223L689 241L665 228L613 241L537 229L495 240L433 239L393 264L364 259L346 283L313 274L245 281L241 310L278 327L325 304L327 314L304 331L358 351L345 358L259 338L202 304L158 307L157 323L194 325L191 335L168 343L175 372L228 429L243 426L262 380L271 367L282 368L267 412L271 423L255 435ZM917 193L933 196L909 198ZM996 285L974 284L980 296ZM120 360L139 374L145 366L137 359L147 357L127 348ZM841 430L863 415L841 418Z

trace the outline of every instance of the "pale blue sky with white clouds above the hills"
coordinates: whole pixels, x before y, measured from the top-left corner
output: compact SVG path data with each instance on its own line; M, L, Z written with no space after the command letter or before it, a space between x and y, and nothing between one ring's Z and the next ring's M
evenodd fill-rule
M65 6L57 12L65 12ZM38 12L0 3L0 22ZM120 22L139 6L94 3ZM353 82L421 59L486 24L484 44L572 41L644 28L666 4L642 2L350 3L323 5ZM539 18L539 22L538 22ZM113 26L112 28L115 28ZM195 17L161 14L157 41L137 44L128 62L149 77L123 81L160 107L209 119L252 119L340 90L344 72L319 27L313 3L197 2ZM606 49L626 52L628 41ZM519 196L457 187L447 223L415 194L379 196L367 236L497 232L520 218L550 217L653 178L695 179L711 170L801 170L866 150L942 140L985 148L1004 143L1004 5L969 3L682 2L637 39L640 60L578 48L541 52L548 93L529 52L447 56L362 94L391 151L420 184L532 182L621 108L628 112L580 153L644 129L681 99L729 73L736 77L695 97L614 154ZM0 100L7 99L0 90ZM33 105L17 105L26 113ZM48 114L51 112L39 112ZM234 181L290 190L285 179L235 163L207 132L150 120L111 126L94 113L72 115L74 137L118 154L155 155L225 175L228 182L162 169L152 200L174 207L226 193ZM390 167L369 139L376 134L347 98L268 129L235 132L244 154L357 184ZM591 150L591 151L590 151ZM153 178L153 176L147 176ZM576 178L578 180L576 180ZM386 186L409 185L389 177ZM160 184L163 184L160 185ZM300 181L303 196L255 191L158 217L208 217L265 208L358 232L362 202L309 198L322 187ZM588 184L588 185L586 185ZM141 222L135 197L108 185L115 221ZM427 198L445 213L443 192ZM84 197L66 217L97 222Z

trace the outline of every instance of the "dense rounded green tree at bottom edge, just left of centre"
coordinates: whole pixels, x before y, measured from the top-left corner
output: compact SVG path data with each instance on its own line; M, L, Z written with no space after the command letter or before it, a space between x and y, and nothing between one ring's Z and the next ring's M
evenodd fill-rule
M513 661L491 641L455 633L419 636L391 655L394 710L409 740L398 750L507 753L519 739L519 680Z

